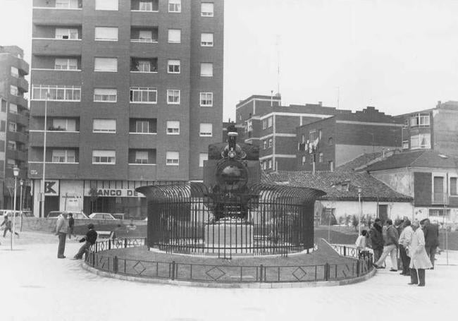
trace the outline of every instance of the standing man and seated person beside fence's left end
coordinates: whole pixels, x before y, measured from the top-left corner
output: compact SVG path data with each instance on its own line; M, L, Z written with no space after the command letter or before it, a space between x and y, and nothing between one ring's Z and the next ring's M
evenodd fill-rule
M70 215L70 219L67 219L68 215ZM71 214L62 213L57 217L56 223L56 235L58 236L58 249L57 249L57 258L63 259L66 258L64 254L66 248L66 238L68 234L68 238L71 237L73 234L73 227L75 225L75 220L73 219ZM97 241L97 231L94 229L94 224L87 225L87 233L86 235L80 239L80 243L84 242L81 246L78 253L75 254L73 259L80 260L82 259L82 255L87 253L87 250Z

